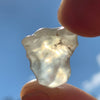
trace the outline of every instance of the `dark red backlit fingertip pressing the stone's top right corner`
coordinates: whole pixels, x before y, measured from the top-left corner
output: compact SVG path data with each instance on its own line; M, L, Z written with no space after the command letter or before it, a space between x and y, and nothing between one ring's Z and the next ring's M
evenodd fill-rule
M78 35L100 36L100 0L62 0L58 20Z

